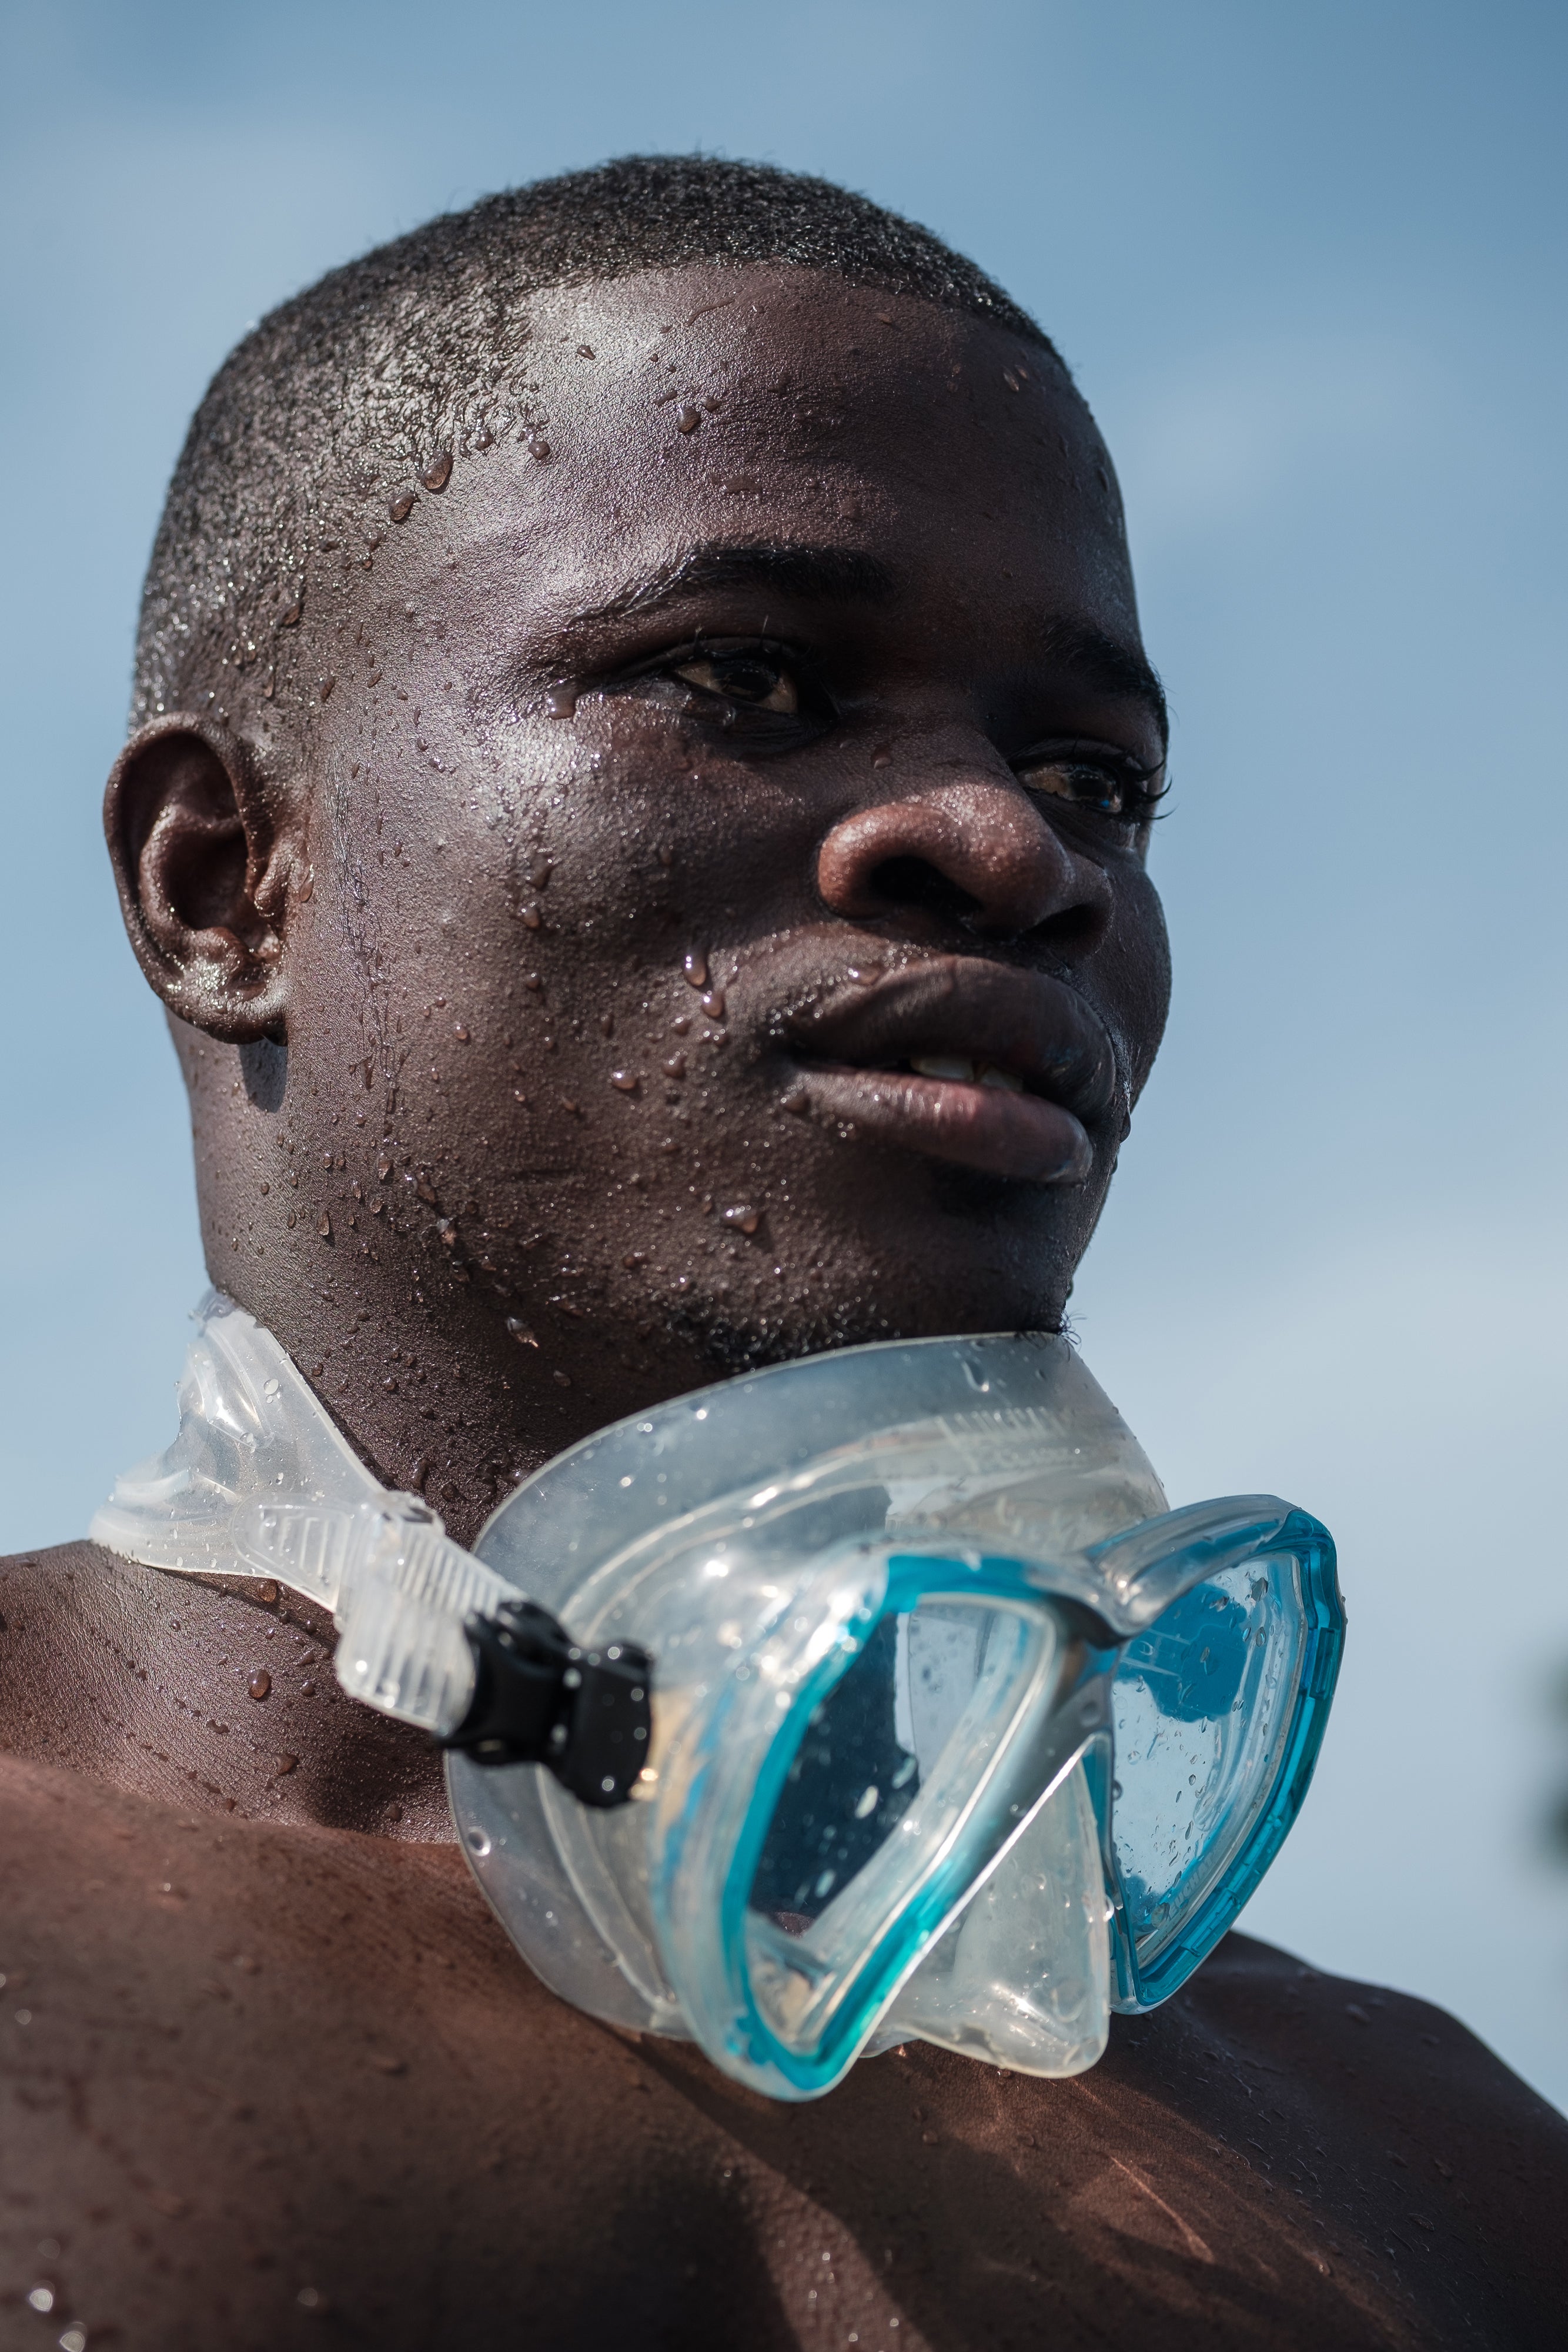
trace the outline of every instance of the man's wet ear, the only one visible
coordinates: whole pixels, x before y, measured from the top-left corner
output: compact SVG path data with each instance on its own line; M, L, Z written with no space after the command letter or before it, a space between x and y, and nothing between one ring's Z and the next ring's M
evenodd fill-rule
M169 1011L228 1044L280 1037L299 844L244 743L207 717L153 720L115 760L103 830L136 962Z

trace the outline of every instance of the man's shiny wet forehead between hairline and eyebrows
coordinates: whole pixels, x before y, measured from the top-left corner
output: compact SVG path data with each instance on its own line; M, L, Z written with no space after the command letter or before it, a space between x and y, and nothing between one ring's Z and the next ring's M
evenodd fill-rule
M1135 637L1093 419L985 320L820 270L639 273L541 294L512 393L522 430L409 517L430 579L489 548L564 612L693 546L802 541Z

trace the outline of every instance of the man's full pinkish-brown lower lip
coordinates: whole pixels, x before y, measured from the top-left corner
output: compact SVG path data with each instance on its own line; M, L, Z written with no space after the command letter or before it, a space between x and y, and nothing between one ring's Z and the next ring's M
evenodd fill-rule
M1093 1167L1084 1127L1037 1094L846 1063L802 1068L799 1084L811 1110L929 1160L1025 1183L1084 1183Z

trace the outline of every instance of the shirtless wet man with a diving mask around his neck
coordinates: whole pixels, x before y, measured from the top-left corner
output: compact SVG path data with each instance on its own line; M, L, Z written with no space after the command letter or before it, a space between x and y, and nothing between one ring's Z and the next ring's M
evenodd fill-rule
M214 1282L461 1543L726 1371L1060 1327L1164 706L1081 397L922 230L635 160L327 278L197 414L134 717ZM1415 2002L1232 1938L1074 2082L778 2107L529 1976L287 1592L78 1543L0 1613L7 2345L1559 2340L1568 2133Z

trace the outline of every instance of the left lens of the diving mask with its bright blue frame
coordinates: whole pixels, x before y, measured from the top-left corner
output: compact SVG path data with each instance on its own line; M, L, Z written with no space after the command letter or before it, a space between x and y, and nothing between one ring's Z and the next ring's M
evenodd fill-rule
M654 1870L698 2039L792 2098L844 2074L1084 1740L1084 1708L1058 1705L1084 1644L1006 1564L891 1557L860 1625L795 1677L795 1628L820 1646L820 1623L802 1609L733 1677L705 1731L729 1785L717 1757L684 1759ZM750 1740L738 1717L755 1719ZM750 1790L733 1773L743 1748ZM1093 1823L1086 1853L1098 1882ZM715 1910L717 1940L684 1931Z

